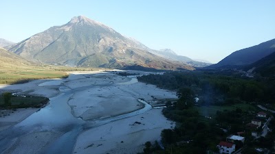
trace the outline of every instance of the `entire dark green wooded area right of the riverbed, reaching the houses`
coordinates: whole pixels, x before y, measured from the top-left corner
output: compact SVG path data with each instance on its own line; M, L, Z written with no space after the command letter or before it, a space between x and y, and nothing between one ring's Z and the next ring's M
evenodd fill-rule
M175 128L162 131L165 149L153 150L146 146L144 153L217 152L220 141L243 131L245 144L235 142L236 149L243 147L243 153L255 153L254 148L272 149L274 146L272 132L265 138L254 139L251 132L261 133L262 130L247 126L260 111L256 105L271 104L274 97L270 86L261 80L199 71L146 75L138 79L160 88L177 90L179 97L173 105L167 102L162 111L164 116L177 122ZM195 97L199 97L198 102Z

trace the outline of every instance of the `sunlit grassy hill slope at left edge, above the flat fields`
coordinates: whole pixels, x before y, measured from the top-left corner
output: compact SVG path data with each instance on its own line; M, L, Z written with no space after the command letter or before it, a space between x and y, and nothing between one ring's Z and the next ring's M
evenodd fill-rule
M0 47L0 68L23 67L32 64L32 62L23 59L23 57Z

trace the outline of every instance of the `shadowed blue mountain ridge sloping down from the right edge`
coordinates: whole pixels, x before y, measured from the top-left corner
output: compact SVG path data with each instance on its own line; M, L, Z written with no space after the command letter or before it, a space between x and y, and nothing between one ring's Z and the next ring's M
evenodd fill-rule
M261 58L274 53L275 39L263 42L253 47L241 49L231 53L219 63L208 66L208 68L226 68L240 65L252 64Z

